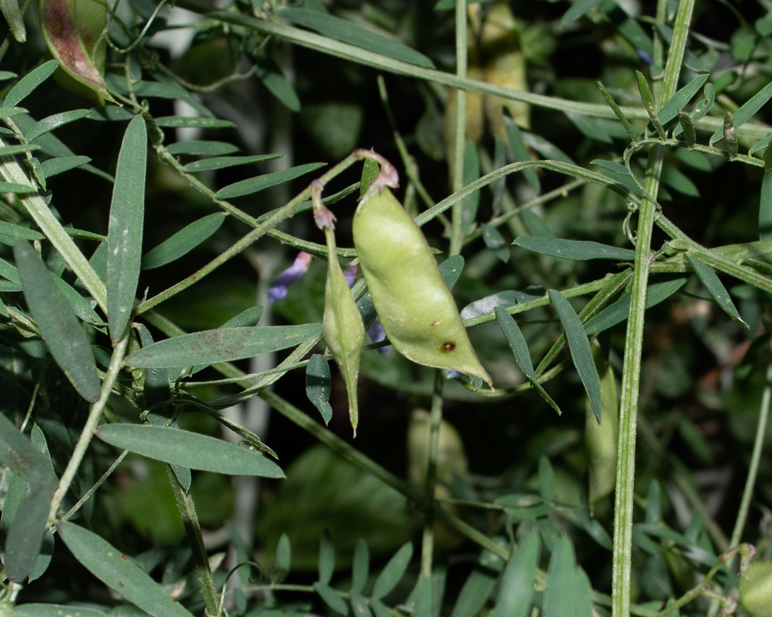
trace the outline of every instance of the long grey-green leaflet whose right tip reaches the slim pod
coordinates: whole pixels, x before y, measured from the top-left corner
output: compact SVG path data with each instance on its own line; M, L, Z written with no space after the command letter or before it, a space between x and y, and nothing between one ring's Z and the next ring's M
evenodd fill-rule
M293 347L321 332L322 324L205 330L143 347L129 354L125 363L130 367L175 368L229 362Z

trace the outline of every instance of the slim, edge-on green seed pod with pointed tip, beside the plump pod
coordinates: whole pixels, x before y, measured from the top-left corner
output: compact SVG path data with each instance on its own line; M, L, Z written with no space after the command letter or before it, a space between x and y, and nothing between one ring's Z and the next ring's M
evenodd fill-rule
M327 283L324 285L324 340L333 352L348 392L348 413L351 428L357 436L359 407L357 405L357 377L359 357L364 343L364 326L351 290L335 253L335 236L331 227L327 234Z

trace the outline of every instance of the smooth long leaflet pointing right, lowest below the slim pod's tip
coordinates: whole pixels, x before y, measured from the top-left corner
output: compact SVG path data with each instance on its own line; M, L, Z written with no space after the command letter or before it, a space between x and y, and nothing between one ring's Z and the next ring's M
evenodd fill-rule
M193 470L232 476L284 477L279 466L266 456L196 432L182 429L170 432L167 426L109 424L100 426L95 434L117 448Z

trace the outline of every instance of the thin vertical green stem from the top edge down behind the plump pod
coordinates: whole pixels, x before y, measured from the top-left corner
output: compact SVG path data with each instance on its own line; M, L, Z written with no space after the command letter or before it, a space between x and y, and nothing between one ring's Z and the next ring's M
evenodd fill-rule
M455 74L466 77L466 0L455 0ZM466 143L466 90L455 91L455 141L453 143L453 192L464 185L464 144ZM453 204L450 254L461 252L462 202Z

